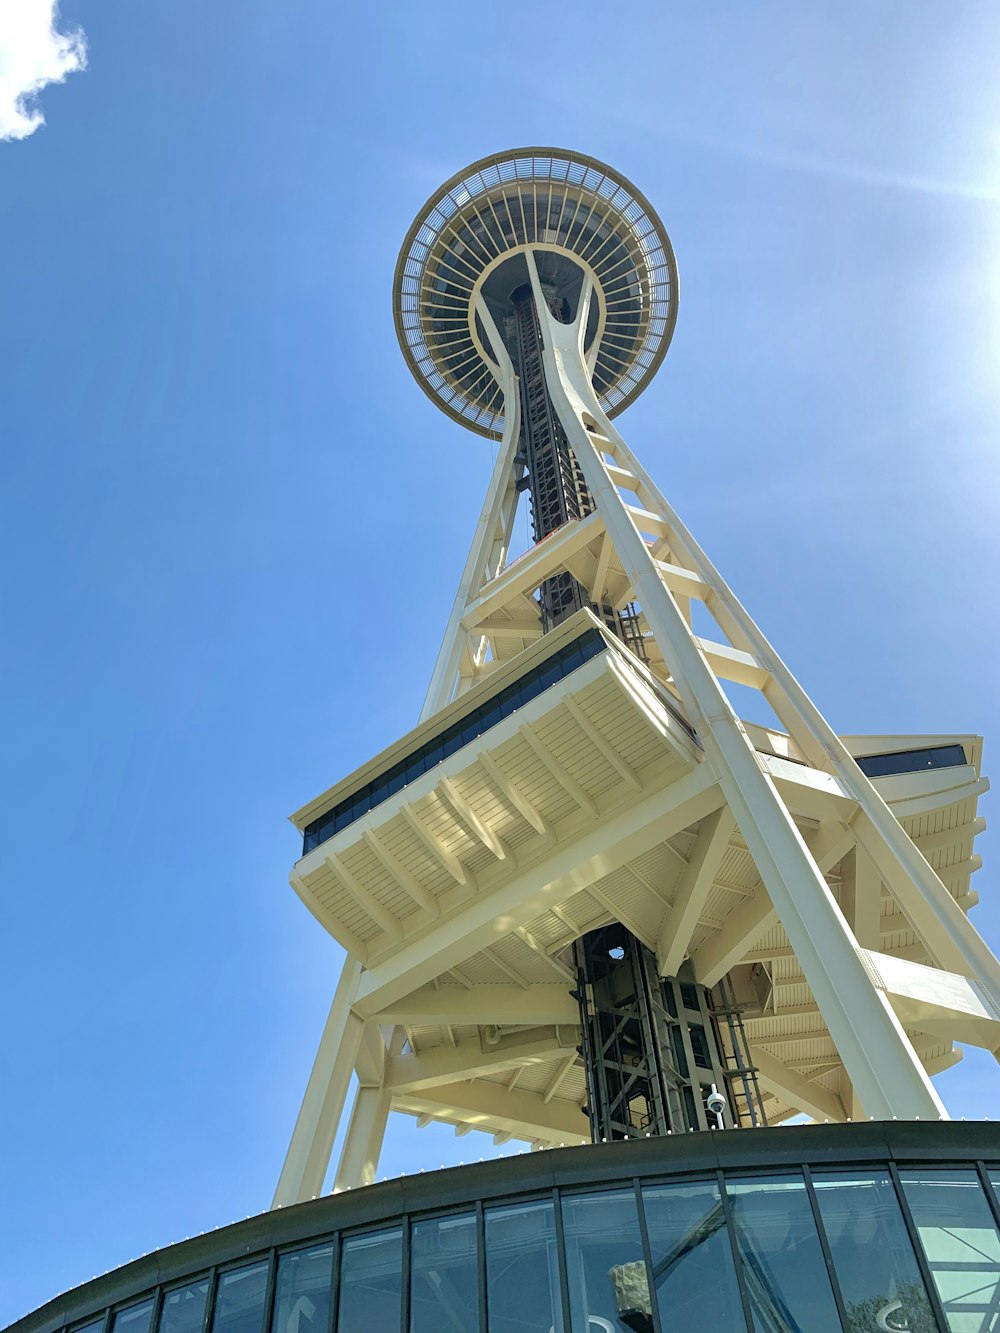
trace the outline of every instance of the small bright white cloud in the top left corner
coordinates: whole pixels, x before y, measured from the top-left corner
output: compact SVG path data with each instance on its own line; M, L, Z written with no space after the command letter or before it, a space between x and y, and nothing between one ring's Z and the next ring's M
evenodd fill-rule
M0 0L0 139L27 139L45 117L39 93L87 68L83 32L57 32L59 0Z

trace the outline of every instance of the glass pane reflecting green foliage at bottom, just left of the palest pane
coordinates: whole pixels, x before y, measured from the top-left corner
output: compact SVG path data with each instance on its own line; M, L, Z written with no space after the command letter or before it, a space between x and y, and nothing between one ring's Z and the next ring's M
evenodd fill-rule
M812 1180L844 1297L848 1333L936 1333L888 1172L813 1173Z

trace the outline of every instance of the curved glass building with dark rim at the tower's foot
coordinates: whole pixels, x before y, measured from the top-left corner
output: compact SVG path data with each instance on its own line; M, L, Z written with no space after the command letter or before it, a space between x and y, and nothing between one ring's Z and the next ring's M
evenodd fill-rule
M529 1153L264 1213L9 1333L987 1333L989 1124L689 1133Z

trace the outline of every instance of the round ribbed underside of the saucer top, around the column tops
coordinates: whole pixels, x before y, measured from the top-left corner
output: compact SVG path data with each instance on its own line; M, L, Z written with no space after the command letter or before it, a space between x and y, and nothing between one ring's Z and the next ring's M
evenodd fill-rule
M603 163L559 148L484 157L452 176L411 227L396 265L396 333L417 383L463 425L499 437L504 393L473 297L525 247L561 253L593 280L593 385L613 417L663 360L677 267L651 204Z

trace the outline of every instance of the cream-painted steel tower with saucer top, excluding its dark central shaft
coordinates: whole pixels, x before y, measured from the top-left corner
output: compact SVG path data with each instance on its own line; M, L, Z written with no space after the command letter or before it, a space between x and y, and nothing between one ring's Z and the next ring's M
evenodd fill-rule
M584 216L599 225L575 232ZM601 271L597 243L625 256L615 272ZM596 505L515 561L517 383L484 297L512 253ZM567 321L543 291L539 256L551 253L580 269ZM468 268L464 304L441 295L447 255ZM624 333L608 313L619 291L632 303ZM772 1124L797 1112L944 1116L929 1074L960 1058L953 1041L1000 1046L1000 965L965 916L981 745L835 734L612 425L676 317L656 215L589 159L488 159L417 217L396 295L421 385L501 444L420 724L296 825L581 628L607 644L296 864L296 892L348 958L275 1202L320 1193L355 1074L337 1188L373 1180L391 1109L497 1142L585 1141L572 944L612 920L656 950L664 976L689 960L705 985L732 978ZM459 309L444 341L443 301ZM645 663L588 611L541 635L533 595L561 572L595 603L639 605ZM711 637L692 627L692 603L711 615ZM727 681L760 690L783 730L741 721ZM961 746L965 762L872 780L855 761L940 745Z

